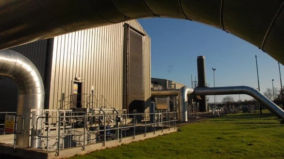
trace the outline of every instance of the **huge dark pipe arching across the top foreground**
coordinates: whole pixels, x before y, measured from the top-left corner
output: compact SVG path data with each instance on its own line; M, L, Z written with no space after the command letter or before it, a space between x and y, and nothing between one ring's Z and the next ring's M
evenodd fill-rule
M284 0L0 0L0 49L146 17L230 32L284 64Z

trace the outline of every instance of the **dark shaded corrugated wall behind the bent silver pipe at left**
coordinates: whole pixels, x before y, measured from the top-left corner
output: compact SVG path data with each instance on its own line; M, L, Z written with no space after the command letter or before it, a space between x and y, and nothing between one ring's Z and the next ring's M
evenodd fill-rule
M48 40L28 43L10 48L29 58L36 66L42 79L46 76ZM44 80L45 81L45 80ZM0 111L17 110L17 86L9 78L1 77L0 80Z

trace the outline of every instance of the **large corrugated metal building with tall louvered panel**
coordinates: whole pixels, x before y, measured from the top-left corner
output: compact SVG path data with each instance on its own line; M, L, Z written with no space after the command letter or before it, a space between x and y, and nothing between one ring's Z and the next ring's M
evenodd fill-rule
M45 87L45 109L91 106L129 113L144 112L150 105L150 37L136 20L10 49L38 69ZM15 112L17 98L16 84L1 77L0 111Z

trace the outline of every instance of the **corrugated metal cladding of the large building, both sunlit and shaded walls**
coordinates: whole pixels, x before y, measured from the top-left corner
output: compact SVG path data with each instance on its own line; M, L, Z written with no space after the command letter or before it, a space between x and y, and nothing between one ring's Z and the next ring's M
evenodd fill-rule
M144 34L142 37L143 89L145 108L150 106L150 37L136 20L109 26L86 29L60 35L51 39L28 43L12 50L29 58L39 70L45 85L45 108L69 109L74 82L82 84L82 101L90 95L103 96L112 107L122 110L126 96L123 95L125 55L125 24ZM77 78L76 77L80 77ZM17 86L8 78L0 77L1 111L16 111ZM78 79L80 79L78 81ZM2 100L3 99L3 100ZM60 100L64 100L61 102ZM15 101L15 103L14 103ZM87 102L81 102L88 107Z

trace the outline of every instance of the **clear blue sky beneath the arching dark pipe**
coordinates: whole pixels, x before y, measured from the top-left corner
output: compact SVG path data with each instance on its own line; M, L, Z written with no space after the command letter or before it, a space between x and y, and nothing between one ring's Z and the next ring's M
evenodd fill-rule
M191 87L197 77L197 57L205 56L206 83L216 87L249 86L257 88L257 56L260 90L280 88L278 63L258 47L221 29L183 19L138 19L151 38L151 77L165 78ZM280 65L283 78L283 65ZM238 100L238 95L232 95ZM220 102L224 96L217 96ZM209 96L214 102L214 97ZM250 100L241 95L241 99Z

